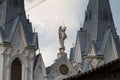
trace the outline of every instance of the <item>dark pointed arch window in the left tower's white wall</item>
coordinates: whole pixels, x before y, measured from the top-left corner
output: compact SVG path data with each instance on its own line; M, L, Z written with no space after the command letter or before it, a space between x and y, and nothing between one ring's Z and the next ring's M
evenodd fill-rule
M22 80L22 64L19 58L11 64L11 80Z

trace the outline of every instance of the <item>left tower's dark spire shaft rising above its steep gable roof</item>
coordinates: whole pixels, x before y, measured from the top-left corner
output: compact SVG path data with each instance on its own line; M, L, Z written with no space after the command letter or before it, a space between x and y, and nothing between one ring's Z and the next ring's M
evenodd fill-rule
M24 0L1 0L0 2L0 28L9 34L12 21L20 16L25 21Z

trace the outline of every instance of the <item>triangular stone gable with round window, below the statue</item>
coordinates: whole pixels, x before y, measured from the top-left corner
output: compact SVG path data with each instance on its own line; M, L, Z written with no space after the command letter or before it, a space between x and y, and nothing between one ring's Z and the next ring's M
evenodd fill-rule
M66 74L64 74L64 71ZM51 66L48 77L53 76L55 80L62 80L62 78L64 77L66 78L75 74L77 74L76 70L74 69L70 61L67 59L67 57L63 56ZM53 79L49 78L48 80Z

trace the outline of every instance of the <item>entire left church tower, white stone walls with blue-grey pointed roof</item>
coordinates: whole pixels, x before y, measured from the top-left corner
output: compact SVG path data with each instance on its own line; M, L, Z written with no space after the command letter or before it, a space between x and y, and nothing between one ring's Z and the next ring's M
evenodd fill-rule
M26 18L24 0L0 0L0 80L45 80L38 48L38 34Z

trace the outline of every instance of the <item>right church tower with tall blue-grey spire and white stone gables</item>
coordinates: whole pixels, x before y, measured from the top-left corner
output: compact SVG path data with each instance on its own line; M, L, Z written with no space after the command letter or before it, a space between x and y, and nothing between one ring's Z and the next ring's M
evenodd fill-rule
M81 72L120 57L120 40L109 0L89 0L83 27L77 32L72 49L70 60Z

